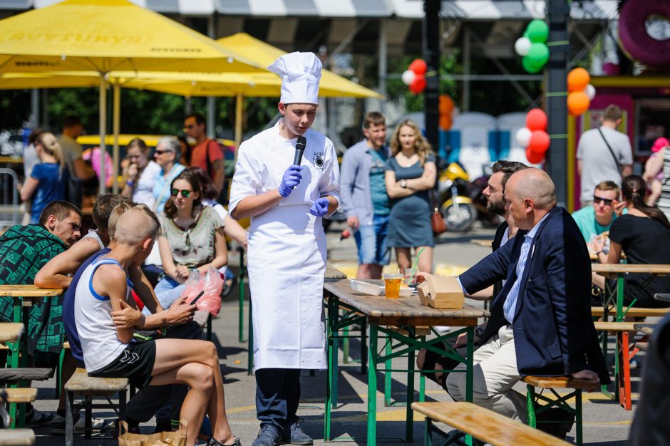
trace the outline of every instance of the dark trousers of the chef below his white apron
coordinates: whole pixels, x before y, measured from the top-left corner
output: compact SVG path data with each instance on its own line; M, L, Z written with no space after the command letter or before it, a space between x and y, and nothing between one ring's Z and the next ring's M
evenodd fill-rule
M256 417L272 425L280 434L284 426L296 422L300 402L300 370L261 368L256 370Z

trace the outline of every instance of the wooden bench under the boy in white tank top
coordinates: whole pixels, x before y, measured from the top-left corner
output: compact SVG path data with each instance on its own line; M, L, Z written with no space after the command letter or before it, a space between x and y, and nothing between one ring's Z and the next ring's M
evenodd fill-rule
M65 444L73 446L74 420L73 408L75 395L85 397L82 405L86 410L84 436L91 438L91 409L112 408L120 420L125 420L125 403L128 391L128 378L94 378L88 376L86 369L78 368L65 384L66 415L65 415ZM110 397L118 392L118 405L111 402ZM108 404L93 404L94 396L103 396ZM117 410L118 407L118 410Z

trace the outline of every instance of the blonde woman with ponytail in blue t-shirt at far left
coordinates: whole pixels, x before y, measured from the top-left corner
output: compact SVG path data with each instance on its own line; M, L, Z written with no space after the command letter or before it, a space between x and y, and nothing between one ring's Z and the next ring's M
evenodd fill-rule
M35 139L35 149L40 163L33 167L24 185L19 184L21 200L31 199L30 222L38 223L47 204L65 199L68 172L61 152L61 145L51 132L43 132Z

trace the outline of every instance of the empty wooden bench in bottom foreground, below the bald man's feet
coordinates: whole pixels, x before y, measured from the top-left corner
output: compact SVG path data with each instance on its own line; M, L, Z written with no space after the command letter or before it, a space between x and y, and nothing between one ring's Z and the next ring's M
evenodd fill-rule
M446 434L446 441L440 445L454 443L464 435L472 435L493 446L566 446L570 443L553 437L541 430L510 420L499 413L474 405L473 403L412 403L412 409L426 415L423 444L433 445L433 432L445 432L433 425L433 421L443 422L459 432Z

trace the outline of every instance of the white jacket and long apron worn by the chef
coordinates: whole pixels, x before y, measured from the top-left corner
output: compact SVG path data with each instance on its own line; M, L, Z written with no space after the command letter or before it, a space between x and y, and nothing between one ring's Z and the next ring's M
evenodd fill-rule
M239 147L230 212L244 197L277 189L292 165L296 140L282 138L278 126ZM256 369L327 367L326 237L321 218L309 208L326 195L339 201L339 167L328 138L314 130L305 137L300 184L277 206L251 219L247 267Z

